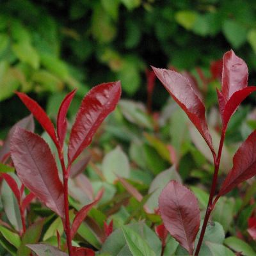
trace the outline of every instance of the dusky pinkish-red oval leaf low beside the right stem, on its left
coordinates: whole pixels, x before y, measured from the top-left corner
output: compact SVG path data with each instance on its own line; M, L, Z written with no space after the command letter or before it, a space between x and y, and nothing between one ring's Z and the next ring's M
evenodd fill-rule
M164 226L193 255L194 242L200 226L200 211L195 195L171 180L159 196L159 209Z

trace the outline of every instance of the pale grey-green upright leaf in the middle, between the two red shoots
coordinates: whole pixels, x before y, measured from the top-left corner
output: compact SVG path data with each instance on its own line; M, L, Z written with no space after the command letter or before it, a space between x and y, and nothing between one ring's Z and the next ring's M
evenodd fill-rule
M104 156L102 172L109 183L113 183L116 180L116 175L129 178L129 159L120 147L116 147Z

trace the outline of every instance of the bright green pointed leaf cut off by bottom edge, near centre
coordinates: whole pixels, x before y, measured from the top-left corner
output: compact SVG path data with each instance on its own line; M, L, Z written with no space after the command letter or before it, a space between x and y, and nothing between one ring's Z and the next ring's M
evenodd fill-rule
M129 249L134 256L156 256L154 251L150 248L147 241L143 239L138 233L129 227L122 228L124 232L125 240L129 246Z

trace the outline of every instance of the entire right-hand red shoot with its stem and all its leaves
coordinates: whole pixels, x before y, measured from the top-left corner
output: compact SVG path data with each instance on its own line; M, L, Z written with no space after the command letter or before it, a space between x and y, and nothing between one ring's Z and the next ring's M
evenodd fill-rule
M219 66L218 63L215 65ZM164 226L180 245L189 252L189 255L197 256L202 246L210 214L220 196L227 194L244 180L256 175L256 131L253 131L234 155L233 167L222 182L220 191L214 197L228 122L239 104L250 93L255 92L256 86L247 86L248 68L246 63L238 58L232 50L226 52L222 61L221 91L217 90L222 127L218 152L215 152L205 120L204 103L193 89L189 79L173 70L155 67L153 67L153 70L166 90L188 115L212 153L214 175L211 193L196 248L195 239L200 229L200 211L195 195L186 186L172 180L159 196L159 211ZM212 70L219 73L218 68L212 68ZM216 77L218 77L218 74L216 74Z

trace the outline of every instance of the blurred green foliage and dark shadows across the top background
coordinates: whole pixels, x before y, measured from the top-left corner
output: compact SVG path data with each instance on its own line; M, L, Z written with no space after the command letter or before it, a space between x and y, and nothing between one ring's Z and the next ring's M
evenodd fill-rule
M92 86L118 79L123 98L146 102L150 65L209 77L212 61L230 49L246 61L255 85L255 1L2 0L0 138L26 111L15 90L50 116L73 88L76 109ZM169 97L157 85L153 109Z

